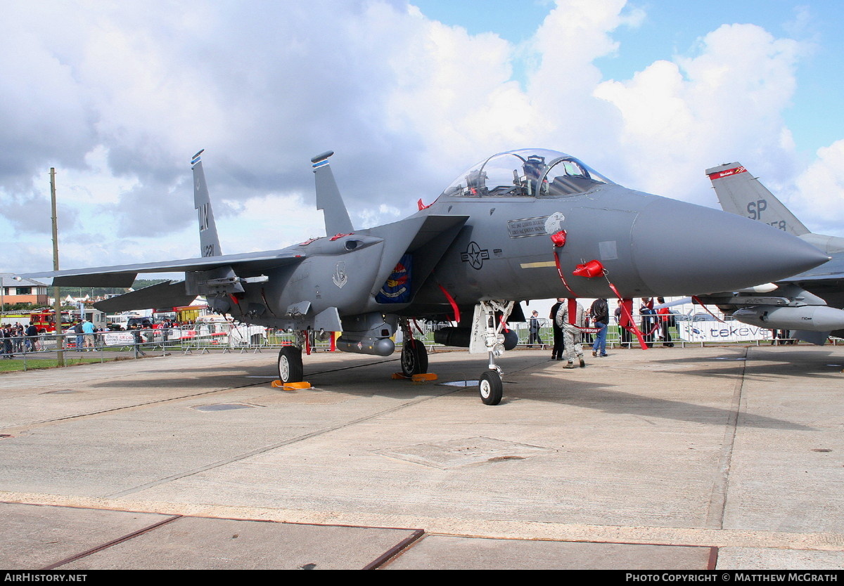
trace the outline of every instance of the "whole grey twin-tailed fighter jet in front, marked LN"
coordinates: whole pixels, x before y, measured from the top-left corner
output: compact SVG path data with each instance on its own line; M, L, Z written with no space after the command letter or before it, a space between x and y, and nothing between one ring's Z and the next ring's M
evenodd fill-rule
M201 257L35 273L56 286L129 287L139 272L185 271L97 305L106 311L184 304L202 294L219 313L296 333L279 378L303 379L311 332L342 331L338 348L388 356L403 333L405 375L425 373L414 320L451 320L438 341L485 353L479 394L501 401L495 359L515 345L519 301L633 298L748 287L805 271L826 255L733 214L615 184L565 153L498 153L457 176L434 202L395 223L354 228L329 166L311 159L326 236L281 250L223 255L200 154L192 159Z

